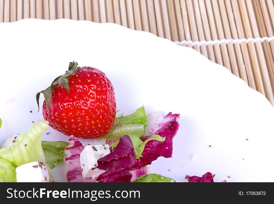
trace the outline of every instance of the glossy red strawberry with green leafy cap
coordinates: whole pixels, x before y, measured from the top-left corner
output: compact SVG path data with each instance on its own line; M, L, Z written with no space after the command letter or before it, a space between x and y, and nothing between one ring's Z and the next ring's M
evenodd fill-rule
M100 138L112 128L116 116L113 86L106 75L94 67L77 67L70 62L69 70L37 93L44 94L44 119L65 134L78 138Z

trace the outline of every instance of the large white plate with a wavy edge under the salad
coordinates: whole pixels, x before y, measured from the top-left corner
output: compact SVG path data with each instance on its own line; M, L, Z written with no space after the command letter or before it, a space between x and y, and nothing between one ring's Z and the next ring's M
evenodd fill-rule
M74 60L106 73L125 115L143 104L147 114L180 113L173 156L154 161L152 173L184 182L207 171L215 182L274 181L273 107L195 50L110 23L26 19L1 23L0 30L0 144L43 118L35 94ZM68 139L48 132L44 140ZM54 169L57 181L65 181L64 169Z

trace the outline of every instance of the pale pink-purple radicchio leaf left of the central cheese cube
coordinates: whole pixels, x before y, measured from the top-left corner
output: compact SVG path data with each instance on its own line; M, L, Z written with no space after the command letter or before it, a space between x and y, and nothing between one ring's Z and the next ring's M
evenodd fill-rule
M84 146L74 136L69 137L69 144L65 148L64 161L68 164L67 167L67 179L68 182L96 182L96 179L83 178L81 164L80 164L80 153L83 151Z

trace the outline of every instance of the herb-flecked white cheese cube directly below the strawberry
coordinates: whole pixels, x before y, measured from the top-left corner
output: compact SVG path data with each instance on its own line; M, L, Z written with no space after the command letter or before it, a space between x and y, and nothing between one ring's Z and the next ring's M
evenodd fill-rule
M95 179L104 170L94 169L98 164L97 160L110 153L108 144L87 145L80 154L80 164L83 177L91 177Z

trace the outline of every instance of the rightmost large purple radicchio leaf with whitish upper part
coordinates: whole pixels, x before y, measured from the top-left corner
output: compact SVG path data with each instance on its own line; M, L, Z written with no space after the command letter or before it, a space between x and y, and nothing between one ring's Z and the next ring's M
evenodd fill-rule
M177 134L179 129L179 117L180 114L172 114L168 113L165 117L163 117L162 122L157 125L157 128L153 129L152 132L154 134L158 134L161 137L165 137L165 141L157 141L151 140L149 141L144 148L142 153L143 157L140 159L136 159L134 165L130 168L130 170L140 169L146 165L151 164L152 161L156 160L158 157L163 156L165 158L169 158L172 156L172 139ZM158 129L159 128L159 129ZM141 138L142 141L145 141L151 136L144 136Z

